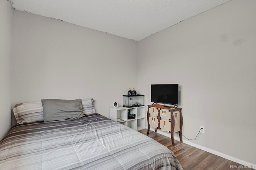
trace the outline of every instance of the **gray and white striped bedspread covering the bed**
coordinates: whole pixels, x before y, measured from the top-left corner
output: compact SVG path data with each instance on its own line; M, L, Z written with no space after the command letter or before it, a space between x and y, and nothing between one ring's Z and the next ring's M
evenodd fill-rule
M182 169L153 139L102 115L30 123L10 129L0 142L0 169Z

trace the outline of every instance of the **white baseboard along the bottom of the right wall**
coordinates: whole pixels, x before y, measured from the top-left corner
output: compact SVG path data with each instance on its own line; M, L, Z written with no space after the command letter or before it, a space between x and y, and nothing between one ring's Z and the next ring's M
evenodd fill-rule
M151 131L155 131L154 128L150 128L150 130L151 130ZM159 134L164 135L164 136L166 136L166 137L170 137L170 133L165 133L164 131L161 131L161 130L160 130L160 131L157 131L156 133L159 133ZM176 141L180 141L180 138L179 138L179 137L176 137L175 135L174 135L174 139L175 139ZM222 152L218 152L218 151L216 151L216 150L213 150L213 149L210 149L210 148L207 148L207 147L203 147L203 146L201 146L201 145L192 143L192 142L190 142L190 141L188 141L188 140L182 139L182 141L183 141L183 143L186 143L187 145L190 145L190 146L192 146L192 147L195 147L195 148L204 150L204 151L206 151L206 152L210 152L210 153L215 154L215 155L217 155L217 156L220 156L220 157L222 157L222 158L231 160L231 161L233 161L233 162L236 162L236 163L241 164L241 165L244 165L244 166L248 166L248 167L250 167L250 168L256 170L256 164L252 164L252 163L250 163L250 162L246 162L246 161L244 161L244 160L235 158L235 157L230 156L230 155L228 155L228 154L224 154L224 153L222 153Z

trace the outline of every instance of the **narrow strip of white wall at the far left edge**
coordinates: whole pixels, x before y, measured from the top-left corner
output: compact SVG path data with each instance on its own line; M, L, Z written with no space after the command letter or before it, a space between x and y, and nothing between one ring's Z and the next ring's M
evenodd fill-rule
M0 1L0 141L11 128L12 6Z

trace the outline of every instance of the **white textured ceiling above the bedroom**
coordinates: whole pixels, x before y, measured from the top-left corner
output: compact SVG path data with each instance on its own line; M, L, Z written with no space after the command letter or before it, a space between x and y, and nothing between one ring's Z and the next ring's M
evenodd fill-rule
M10 0L16 10L139 41L230 0Z

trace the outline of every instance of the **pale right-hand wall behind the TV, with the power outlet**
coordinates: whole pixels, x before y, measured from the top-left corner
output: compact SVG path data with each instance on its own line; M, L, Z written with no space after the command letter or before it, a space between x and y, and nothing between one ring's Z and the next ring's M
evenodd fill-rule
M256 164L256 1L232 0L138 43L138 88L180 85L183 134ZM177 134L175 134L177 135Z

